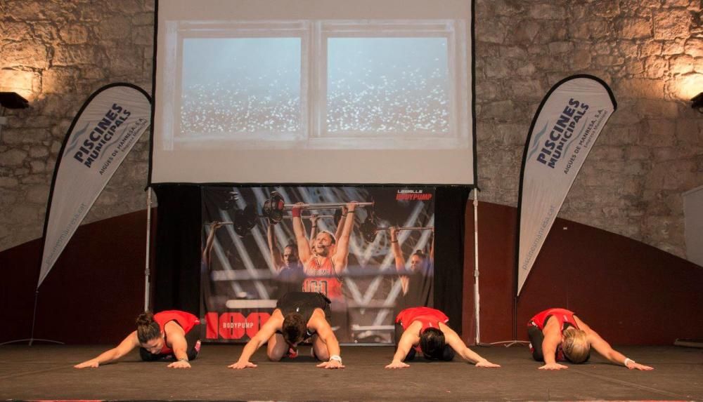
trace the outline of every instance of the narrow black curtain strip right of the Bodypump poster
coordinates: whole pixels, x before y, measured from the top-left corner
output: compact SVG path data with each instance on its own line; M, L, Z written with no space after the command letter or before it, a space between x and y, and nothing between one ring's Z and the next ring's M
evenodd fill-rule
M467 187L437 187L434 201L434 308L461 333Z

